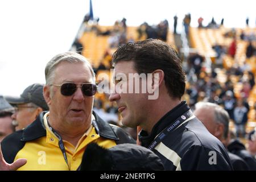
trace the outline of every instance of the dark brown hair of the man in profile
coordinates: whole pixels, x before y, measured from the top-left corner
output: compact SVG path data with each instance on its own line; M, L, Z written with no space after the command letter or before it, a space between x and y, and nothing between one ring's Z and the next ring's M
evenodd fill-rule
M112 61L113 65L120 61L133 61L139 74L161 69L171 97L181 98L185 92L185 72L177 52L161 40L126 43L114 52Z

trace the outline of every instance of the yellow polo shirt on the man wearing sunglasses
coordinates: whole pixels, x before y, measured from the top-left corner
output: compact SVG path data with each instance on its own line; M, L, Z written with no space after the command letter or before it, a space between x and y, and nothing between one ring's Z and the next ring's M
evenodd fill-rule
M20 167L18 170L73 171L80 166L85 147L89 143L95 142L99 146L105 148L110 148L116 145L114 140L100 137L100 135L96 133L93 125L91 125L85 134L82 135L77 146L73 146L73 144L63 140L68 159L67 164L63 153L59 148L59 139L51 129L49 129L47 123L48 114L49 113L46 113L44 115L46 136L26 142L24 147L15 156L14 161L20 158L27 159L27 164Z

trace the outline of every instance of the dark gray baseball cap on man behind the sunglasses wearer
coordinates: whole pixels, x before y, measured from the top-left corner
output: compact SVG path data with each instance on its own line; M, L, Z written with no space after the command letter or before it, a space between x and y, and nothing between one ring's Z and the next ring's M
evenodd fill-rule
M44 84L32 84L28 86L22 94L20 94L20 97L5 96L5 100L11 105L32 102L43 110L49 110L48 105L44 100L43 87Z

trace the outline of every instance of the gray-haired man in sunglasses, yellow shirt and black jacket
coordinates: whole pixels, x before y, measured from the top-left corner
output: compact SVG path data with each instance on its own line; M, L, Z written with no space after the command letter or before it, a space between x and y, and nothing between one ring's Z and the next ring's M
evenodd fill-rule
M89 143L110 148L134 143L122 129L93 113L95 75L85 57L66 52L53 57L45 70L43 112L26 129L3 140L2 170L76 170Z

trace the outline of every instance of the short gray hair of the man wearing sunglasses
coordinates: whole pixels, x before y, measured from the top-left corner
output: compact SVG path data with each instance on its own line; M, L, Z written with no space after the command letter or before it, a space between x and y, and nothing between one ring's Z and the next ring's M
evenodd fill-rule
M68 51L64 53L60 53L56 56L54 56L46 65L45 69L45 75L46 75L46 85L53 84L53 77L54 77L54 71L56 68L56 65L66 61L68 63L85 63L88 65L88 68L90 69L90 73L92 73L93 81L95 82L95 73L93 72L92 65L89 63L89 61L82 55L76 52Z

